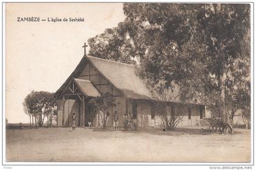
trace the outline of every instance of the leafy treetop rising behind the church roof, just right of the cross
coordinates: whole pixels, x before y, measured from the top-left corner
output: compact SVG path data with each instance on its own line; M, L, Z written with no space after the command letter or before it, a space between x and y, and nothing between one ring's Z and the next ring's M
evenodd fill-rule
M101 35L88 39L89 55L121 63L134 64L133 44L129 36L122 35L121 29L106 29Z

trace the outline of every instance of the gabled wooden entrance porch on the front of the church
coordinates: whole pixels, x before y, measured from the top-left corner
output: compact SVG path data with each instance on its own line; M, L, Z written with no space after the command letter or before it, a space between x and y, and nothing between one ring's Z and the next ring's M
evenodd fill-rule
M88 101L93 97L100 96L99 92L88 80L73 78L68 83L58 103L58 126L72 126L72 115L76 113L76 126L96 126L98 117L92 117L92 109Z

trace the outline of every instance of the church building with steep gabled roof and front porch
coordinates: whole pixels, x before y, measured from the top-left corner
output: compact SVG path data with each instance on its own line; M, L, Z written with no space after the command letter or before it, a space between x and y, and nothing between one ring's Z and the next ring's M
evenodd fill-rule
M146 84L135 74L135 66L104 60L85 55L68 79L55 92L58 98L57 125L72 126L72 115L76 113L76 126L102 126L101 117L97 114L90 117L91 106L88 101L99 97L105 92L115 98L116 106L112 108L107 126L113 126L115 111L119 115L119 126L123 125L124 115L132 115L132 121L138 127L158 127L162 121L155 104L162 103L154 98ZM177 112L187 107L179 102L168 102ZM183 109L184 110L184 109ZM195 126L196 122L205 117L205 106L193 104L185 109L183 121L179 126Z

